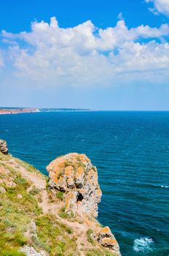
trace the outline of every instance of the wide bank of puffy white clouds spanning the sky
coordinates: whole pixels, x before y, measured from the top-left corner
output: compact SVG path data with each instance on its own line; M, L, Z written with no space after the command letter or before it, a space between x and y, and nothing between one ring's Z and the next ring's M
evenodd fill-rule
M169 76L167 24L128 29L119 20L99 29L88 20L63 29L51 18L32 23L31 32L2 31L1 37L15 77L34 86L104 86Z

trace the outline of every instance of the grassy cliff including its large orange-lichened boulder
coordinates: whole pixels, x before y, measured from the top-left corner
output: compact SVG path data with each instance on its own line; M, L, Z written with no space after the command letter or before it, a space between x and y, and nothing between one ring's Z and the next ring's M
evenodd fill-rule
M95 219L101 189L90 159L67 154L47 170L49 178L0 148L0 255L120 255Z

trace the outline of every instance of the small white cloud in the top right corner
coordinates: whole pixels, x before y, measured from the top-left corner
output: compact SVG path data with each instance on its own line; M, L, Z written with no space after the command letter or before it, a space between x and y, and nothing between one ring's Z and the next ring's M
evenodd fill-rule
M145 0L146 3L152 2L154 7L149 7L149 10L155 15L162 13L164 15L169 15L169 0Z

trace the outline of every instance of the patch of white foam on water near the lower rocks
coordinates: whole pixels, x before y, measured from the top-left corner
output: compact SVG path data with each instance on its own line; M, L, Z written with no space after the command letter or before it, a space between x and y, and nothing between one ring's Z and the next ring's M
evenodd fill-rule
M133 250L135 252L151 252L152 251L152 245L154 244L154 241L152 238L140 238L135 239L133 244Z

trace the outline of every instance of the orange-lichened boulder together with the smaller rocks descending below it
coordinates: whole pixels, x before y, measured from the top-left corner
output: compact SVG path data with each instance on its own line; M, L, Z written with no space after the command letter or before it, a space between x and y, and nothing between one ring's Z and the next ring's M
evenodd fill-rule
M63 192L65 211L73 213L75 217L82 217L81 220L93 233L98 244L121 255L119 244L110 228L100 227L98 222L90 220L90 217L98 216L98 203L102 194L98 184L98 171L90 159L85 154L66 154L50 162L47 171L53 193Z

